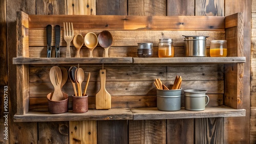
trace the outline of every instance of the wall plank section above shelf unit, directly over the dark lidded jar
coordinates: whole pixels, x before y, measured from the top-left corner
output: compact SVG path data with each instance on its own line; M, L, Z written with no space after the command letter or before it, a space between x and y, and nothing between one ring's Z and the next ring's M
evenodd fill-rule
M160 1L128 1L128 15L166 15L166 0Z

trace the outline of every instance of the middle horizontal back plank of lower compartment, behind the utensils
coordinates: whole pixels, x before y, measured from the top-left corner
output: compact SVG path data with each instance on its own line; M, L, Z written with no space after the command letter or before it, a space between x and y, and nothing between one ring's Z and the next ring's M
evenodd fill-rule
M163 81L165 84L173 84L173 81ZM224 81L183 81L183 89L207 89L207 94L213 93L224 93ZM88 85L87 93L89 96L95 96L99 91L99 82L90 82ZM30 83L30 97L46 97L46 95L52 91L54 88L51 82L45 83ZM68 95L74 94L71 82L66 83L63 89L68 93ZM156 95L156 87L154 85L154 80L152 81L108 81L106 82L106 89L109 93L114 95Z

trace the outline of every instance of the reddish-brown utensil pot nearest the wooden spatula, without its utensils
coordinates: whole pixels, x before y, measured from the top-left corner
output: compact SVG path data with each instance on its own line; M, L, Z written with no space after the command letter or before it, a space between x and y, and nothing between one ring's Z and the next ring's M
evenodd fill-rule
M88 111L88 95L78 97L73 95L73 112L85 113Z

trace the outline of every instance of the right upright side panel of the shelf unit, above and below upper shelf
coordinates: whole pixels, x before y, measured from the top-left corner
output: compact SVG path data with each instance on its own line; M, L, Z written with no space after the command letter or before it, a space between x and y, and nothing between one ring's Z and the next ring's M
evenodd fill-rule
M237 13L225 18L227 56L242 57L243 53L243 14ZM244 66L239 64L225 65L225 93L224 103L226 106L242 109L243 106L243 73Z

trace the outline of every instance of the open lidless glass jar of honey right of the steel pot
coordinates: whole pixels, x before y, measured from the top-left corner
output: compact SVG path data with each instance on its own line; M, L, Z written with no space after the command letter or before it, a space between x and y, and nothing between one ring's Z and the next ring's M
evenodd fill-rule
M211 40L210 41L210 57L226 57L226 56L227 56L227 41Z

